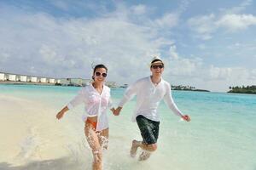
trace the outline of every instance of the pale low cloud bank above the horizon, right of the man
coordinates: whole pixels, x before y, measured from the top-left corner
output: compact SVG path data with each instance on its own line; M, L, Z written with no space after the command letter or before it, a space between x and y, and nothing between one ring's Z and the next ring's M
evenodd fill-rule
M190 85L212 91L228 91L229 86L256 83L255 69L206 65L201 58L180 56L174 44L170 48L165 75L173 85Z

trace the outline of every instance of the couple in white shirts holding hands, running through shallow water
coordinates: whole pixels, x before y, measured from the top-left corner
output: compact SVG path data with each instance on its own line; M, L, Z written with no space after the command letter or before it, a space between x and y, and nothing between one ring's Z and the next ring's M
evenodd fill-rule
M161 77L164 67L164 62L160 58L152 59L150 63L151 76L144 77L127 88L118 108L114 109L110 98L110 88L104 85L108 68L105 65L96 65L92 76L93 82L82 88L79 94L56 115L57 119L61 119L66 111L84 103L87 113L84 117L84 133L92 150L94 170L102 169L102 148L108 148L108 108L111 108L113 115L119 116L123 105L137 95L137 108L133 121L137 122L143 141L133 140L130 154L131 157L135 157L137 148L143 149L144 151L139 156L140 161L148 159L150 153L157 149L160 124L157 107L161 99L166 101L166 105L177 116L187 122L190 121L189 116L183 115L173 102L171 86Z

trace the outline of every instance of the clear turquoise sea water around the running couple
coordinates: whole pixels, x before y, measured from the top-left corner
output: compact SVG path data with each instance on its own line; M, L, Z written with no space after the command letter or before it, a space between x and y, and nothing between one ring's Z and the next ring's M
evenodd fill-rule
M73 99L79 89L79 87L2 84L0 94L40 103L44 105L43 108L50 108L47 114L55 119L56 113ZM124 88L112 89L114 106L118 104L124 92ZM162 102L159 107L161 121L158 150L148 161L137 161L137 158L132 159L129 156L131 140L141 139L137 124L131 122L136 99L127 103L119 116L113 116L108 111L109 144L108 150L103 153L103 169L256 170L256 95L172 91L172 97L179 110L191 117L191 122L181 121ZM33 159L32 156L36 154L26 154L28 161L25 164L13 166L8 161L0 160L0 169L90 169L92 155L84 137L82 111L84 111L83 106L79 106L68 111L63 120L55 121L56 126L65 130L52 127L47 129L47 123L40 125L44 126L44 138L45 136L47 138L45 131L49 136L51 133L59 134L61 137L67 135L68 138L66 142L60 144L61 147L58 146L58 136L55 137L56 139L50 137L52 139L40 142L43 136L32 140L35 134L27 137L29 142L26 142L26 147L23 146L23 152L32 153L33 150L36 153L45 151L42 148L35 150L37 144L38 148L40 144L52 144L55 148L66 150L66 156L54 158L55 153L52 153L50 159L40 160ZM9 114L20 114L20 112ZM35 112L34 116L37 114L38 116L41 114L40 110ZM40 137L40 130L36 133ZM35 147L30 147L30 144ZM3 148L0 146L1 149ZM138 154L140 152L141 150L138 150Z

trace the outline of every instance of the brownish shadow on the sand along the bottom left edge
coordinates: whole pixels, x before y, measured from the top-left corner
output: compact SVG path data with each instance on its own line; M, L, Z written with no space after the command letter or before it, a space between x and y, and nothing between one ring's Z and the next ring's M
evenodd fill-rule
M7 162L0 162L0 170L71 170L80 168L84 169L79 165L79 162L72 161L68 157L55 160L32 161L26 165L17 167Z

